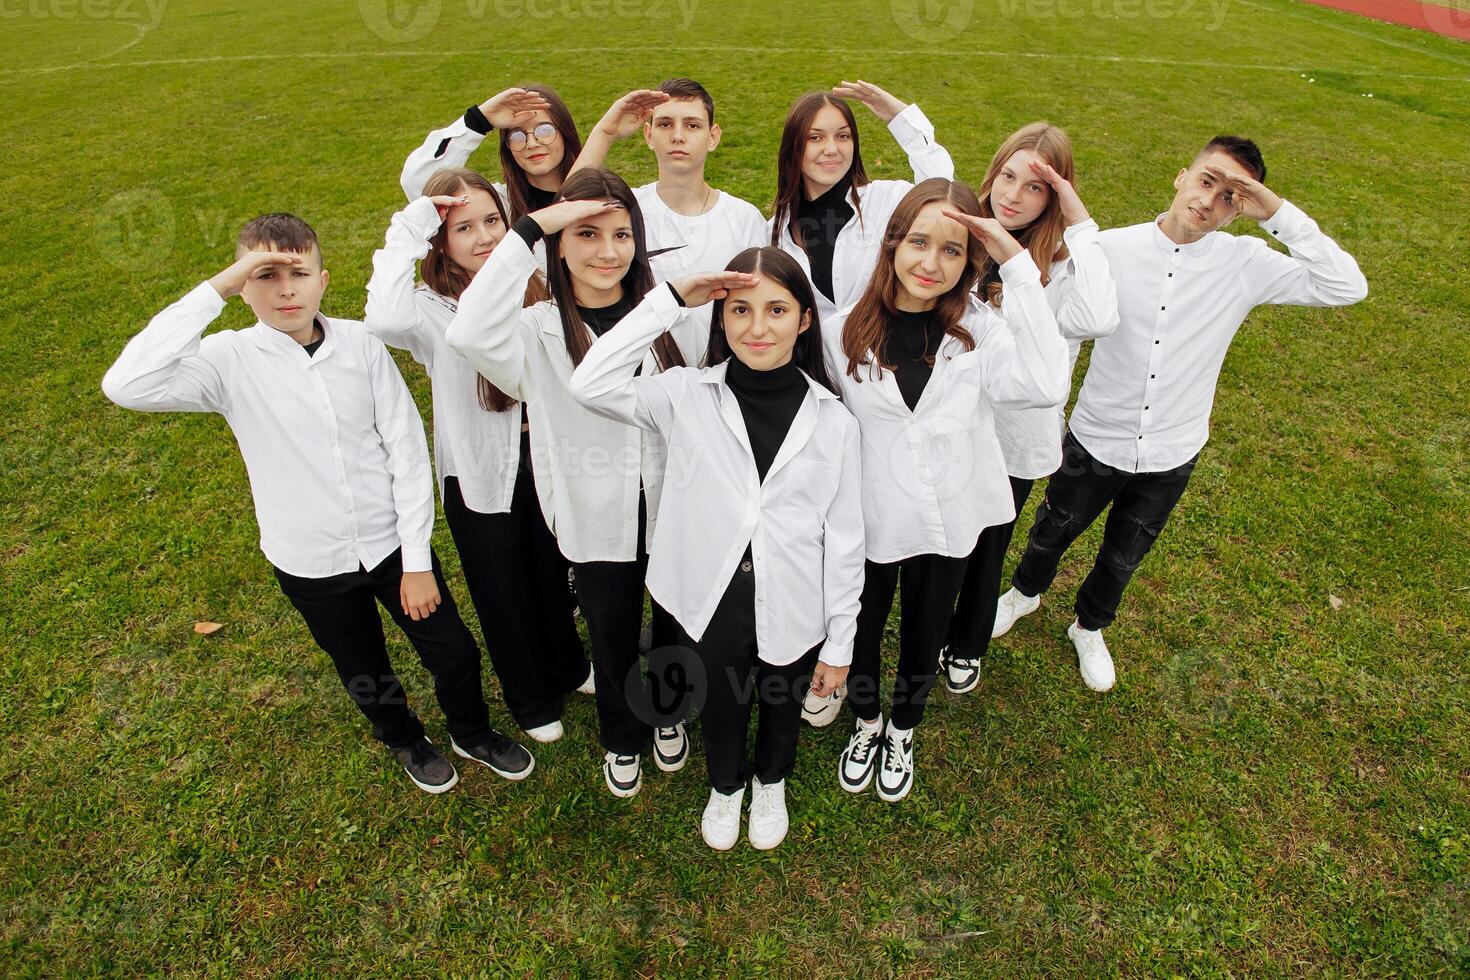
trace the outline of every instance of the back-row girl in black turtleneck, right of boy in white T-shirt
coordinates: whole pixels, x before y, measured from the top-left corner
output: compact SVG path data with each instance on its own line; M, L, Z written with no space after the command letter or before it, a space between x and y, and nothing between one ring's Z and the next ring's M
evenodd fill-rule
M933 125L919 106L906 107L878 85L842 82L792 103L776 162L770 244L801 263L823 319L863 294L888 217L913 187L869 179L847 98L857 98L888 125L908 154L914 181L954 176L954 162L935 143Z

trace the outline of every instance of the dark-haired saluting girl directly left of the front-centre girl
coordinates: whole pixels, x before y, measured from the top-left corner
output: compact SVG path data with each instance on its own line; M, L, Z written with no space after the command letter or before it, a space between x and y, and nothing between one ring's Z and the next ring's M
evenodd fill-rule
M535 275L534 247L542 239L551 297L522 309L520 291ZM645 541L659 513L666 448L656 433L587 410L567 383L592 341L653 285L632 190L609 170L578 170L557 203L513 225L465 289L448 329L454 350L526 406L537 495L575 569L592 644L603 777L614 796L638 792L650 735L662 770L679 770L688 758L684 726L651 730L623 691L638 670ZM676 319L653 344L645 375L692 361L697 320Z

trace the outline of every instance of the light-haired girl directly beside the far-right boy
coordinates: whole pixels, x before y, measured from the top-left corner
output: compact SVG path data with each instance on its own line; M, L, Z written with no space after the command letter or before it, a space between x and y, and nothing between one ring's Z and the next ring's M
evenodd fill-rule
M1047 122L1013 132L995 151L980 184L980 215L994 217L1041 269L1047 303L1067 339L1070 376L1082 341L1117 329L1117 289L1107 256L1098 244L1097 222L1073 188L1075 166L1067 134ZM1005 291L998 266L986 257L980 267L980 298L1003 316ZM1061 408L1014 408L995 413L995 435L1005 457L1011 501L1020 514L1032 483L1061 464ZM1032 599L1011 589L998 599L1001 567L1016 519L980 533L941 654L944 683L953 693L980 682L980 658L991 633L1004 633ZM1004 614L998 614L998 608Z

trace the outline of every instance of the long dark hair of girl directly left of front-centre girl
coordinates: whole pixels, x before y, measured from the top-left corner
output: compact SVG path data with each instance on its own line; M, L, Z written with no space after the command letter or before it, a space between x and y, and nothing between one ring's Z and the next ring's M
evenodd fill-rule
M559 201L617 201L628 212L628 222L634 226L634 260L628 263L623 273L623 295L634 301L642 300L654 287L653 269L648 266L648 238L644 234L642 212L638 209L638 198L634 197L628 181L612 170L603 167L588 167L578 170L562 184L557 194ZM572 273L567 272L566 260L562 259L562 232L547 235L547 288L551 291L551 301L557 313L562 314L562 338L566 341L566 353L572 359L572 366L582 363L587 351L592 348L591 331L582 322L582 314L576 309L576 292L572 288ZM684 367L684 356L679 345L669 334L664 334L653 345L659 370Z

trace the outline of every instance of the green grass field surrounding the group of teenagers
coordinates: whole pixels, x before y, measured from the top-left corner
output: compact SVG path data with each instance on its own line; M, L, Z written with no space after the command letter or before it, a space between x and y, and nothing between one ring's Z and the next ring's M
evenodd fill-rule
M1470 47L1288 0L444 0L406 32L384 6L0 6L6 973L1470 971ZM426 129L541 79L585 131L684 73L719 101L713 182L763 207L786 104L842 78L919 100L970 179L1064 125L1102 226L1254 135L1372 288L1241 331L1111 695L1063 636L1094 529L982 686L936 695L916 793L848 798L842 729L808 730L769 855L703 845L698 757L614 801L588 699L528 783L415 790L270 579L223 422L98 391L250 216L312 220L323 309L360 316Z

